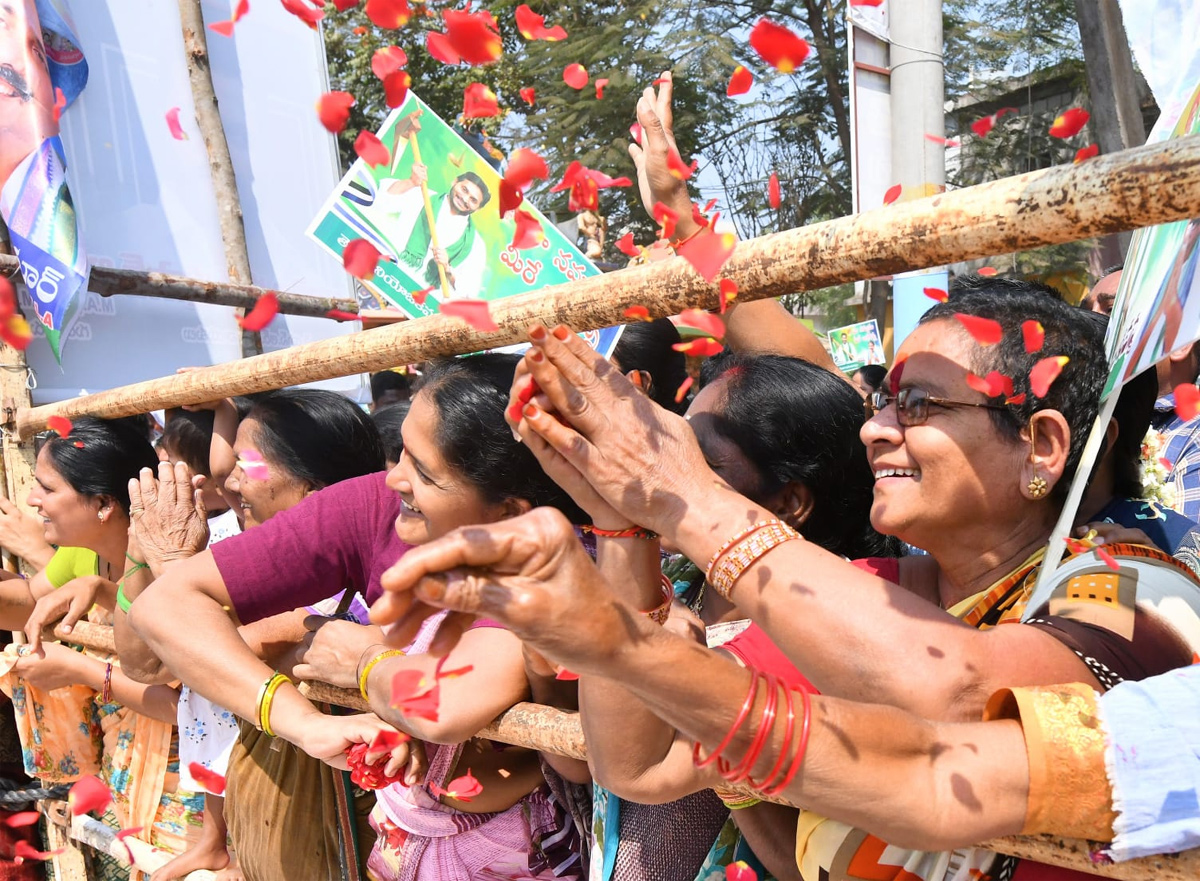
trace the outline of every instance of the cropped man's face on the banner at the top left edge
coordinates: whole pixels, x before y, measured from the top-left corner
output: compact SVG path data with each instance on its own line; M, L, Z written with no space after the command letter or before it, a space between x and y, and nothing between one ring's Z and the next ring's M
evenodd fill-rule
M34 0L0 0L0 174L58 131ZM20 156L10 157L10 151Z

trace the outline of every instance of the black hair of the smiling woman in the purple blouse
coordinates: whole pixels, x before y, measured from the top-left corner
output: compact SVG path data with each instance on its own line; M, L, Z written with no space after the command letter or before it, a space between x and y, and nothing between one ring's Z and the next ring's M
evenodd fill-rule
M428 362L419 394L438 412L438 451L490 504L522 498L535 508L557 508L572 523L590 523L504 421L520 361L520 355L493 353Z

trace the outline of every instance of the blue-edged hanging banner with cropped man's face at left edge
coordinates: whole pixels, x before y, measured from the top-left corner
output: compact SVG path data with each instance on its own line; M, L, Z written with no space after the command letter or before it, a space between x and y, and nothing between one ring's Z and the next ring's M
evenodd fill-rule
M88 277L59 119L86 83L58 0L0 2L0 217L59 361Z

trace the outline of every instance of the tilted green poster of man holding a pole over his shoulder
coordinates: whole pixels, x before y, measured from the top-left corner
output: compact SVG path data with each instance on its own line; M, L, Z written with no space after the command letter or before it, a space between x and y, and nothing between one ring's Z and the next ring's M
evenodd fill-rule
M545 239L514 248L496 169L413 92L377 136L390 161L356 160L308 235L338 260L354 239L370 241L383 257L362 284L380 306L420 318L449 300L497 300L599 275L529 202L521 206L541 221ZM608 354L618 335L611 328L586 337Z

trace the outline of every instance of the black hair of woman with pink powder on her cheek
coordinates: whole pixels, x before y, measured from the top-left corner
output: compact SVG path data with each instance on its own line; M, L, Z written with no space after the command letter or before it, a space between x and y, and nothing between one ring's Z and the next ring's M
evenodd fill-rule
M256 396L259 451L313 490L383 471L383 442L362 408L323 389Z

